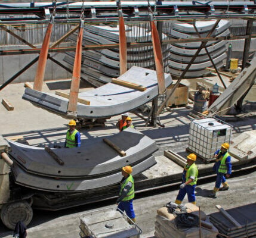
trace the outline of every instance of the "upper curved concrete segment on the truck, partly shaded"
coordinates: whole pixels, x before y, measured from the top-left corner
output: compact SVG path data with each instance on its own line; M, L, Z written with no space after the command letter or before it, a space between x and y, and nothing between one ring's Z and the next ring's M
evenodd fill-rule
M102 137L82 141L80 148L51 149L64 165L59 165L44 148L27 146L9 141L10 156L23 170L48 177L99 177L119 171L126 165L132 165L157 151L154 140L128 128L113 136L104 137L126 152L120 156L110 148Z

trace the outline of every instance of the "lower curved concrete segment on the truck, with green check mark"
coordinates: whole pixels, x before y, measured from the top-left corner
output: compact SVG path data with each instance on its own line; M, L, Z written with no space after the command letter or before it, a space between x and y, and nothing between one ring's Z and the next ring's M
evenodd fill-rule
M132 175L142 173L155 164L155 157L150 156L132 167ZM51 177L36 176L35 174L26 173L26 171L22 170L17 164L14 164L12 171L14 180L17 184L36 190L52 192L81 192L98 189L100 187L119 183L122 179L121 171L95 179L55 179Z

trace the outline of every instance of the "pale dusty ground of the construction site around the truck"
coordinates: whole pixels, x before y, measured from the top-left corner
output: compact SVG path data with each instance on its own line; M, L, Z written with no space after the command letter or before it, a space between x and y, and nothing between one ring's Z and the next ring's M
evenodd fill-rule
M229 79L225 79L229 82ZM190 89L195 89L195 82L198 80L184 80ZM214 84L218 82L217 77L208 77L203 82ZM218 82L220 85L220 82ZM44 91L54 93L55 90L68 92L69 80L59 80L45 82ZM81 90L90 89L87 84L81 83ZM243 131L256 129L255 120L255 85L245 98L245 111L237 116L225 117L228 123L233 126L233 137L238 136ZM10 84L1 91L1 100L5 98L13 105L13 111L7 111L0 105L0 133L7 138L16 139L21 143L28 143L33 146L53 147L63 146L66 136L68 120L55 115L42 108L35 107L30 102L21 99L24 92L24 83ZM135 177L135 181L145 179L161 179L166 176L180 177L183 167L176 164L164 156L165 150L172 150L181 156L186 156L187 142L189 139L189 123L193 118L189 116L191 109L186 107L172 108L160 115L162 127L144 127L145 121L131 114L133 124L137 130L154 139L159 150L155 152L158 162L149 170ZM91 137L104 137L105 135L118 133L115 124L119 116L107 120L105 127L94 127L92 129L81 129L81 139ZM72 159L72 158L70 158ZM204 164L198 159L197 164L202 168L211 170L212 164ZM246 171L239 177L229 179L230 190L220 192L217 199L206 198L209 191L214 187L214 178L211 182L200 184L196 188L196 199L201 209L209 214L215 212L215 205L220 204L224 209L245 205L256 201L255 171ZM200 177L200 174L199 174ZM135 183L136 186L136 183ZM145 188L146 189L146 188ZM171 191L172 190L172 191ZM171 191L171 192L170 192ZM158 190L158 192L147 192L137 195L134 201L135 213L137 215L138 226L143 230L141 237L152 237L156 209L169 201L175 201L178 192L178 185L171 189ZM187 202L187 198L184 202ZM79 237L79 215L91 209L100 209L106 206L115 206L115 199L105 202L94 203L93 205L83 205L77 208L69 208L63 211L34 211L34 217L29 225L28 237ZM0 237L12 237L12 232L0 223Z

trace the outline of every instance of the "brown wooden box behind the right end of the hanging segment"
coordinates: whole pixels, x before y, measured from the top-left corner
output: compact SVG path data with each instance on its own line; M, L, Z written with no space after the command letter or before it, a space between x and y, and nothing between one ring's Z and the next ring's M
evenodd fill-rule
M168 97L171 93L172 87L174 87L175 84L172 84L171 86L167 87L166 96ZM189 97L189 87L181 84L175 89L175 92L172 94L171 98L167 101L167 106L177 106L177 105L186 105L187 104L187 98Z

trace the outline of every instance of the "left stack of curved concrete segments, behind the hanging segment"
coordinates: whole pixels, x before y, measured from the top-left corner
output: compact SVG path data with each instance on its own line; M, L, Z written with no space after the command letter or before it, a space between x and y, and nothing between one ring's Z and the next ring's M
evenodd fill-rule
M127 43L149 43L152 42L151 32L140 26L126 26ZM162 38L166 39L166 35ZM77 36L74 34L69 40L76 42ZM119 43L118 26L92 26L85 25L83 45L112 45ZM164 65L168 69L168 46L162 46L164 54ZM75 52L66 52L64 62L70 70L73 69ZM144 68L155 68L155 60L152 46L140 46L137 48L127 48L127 68L133 65ZM119 77L119 48L97 49L84 51L82 53L81 76L92 85L98 87L111 82L112 77Z

